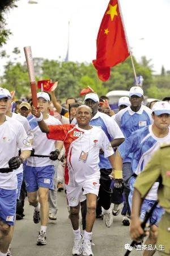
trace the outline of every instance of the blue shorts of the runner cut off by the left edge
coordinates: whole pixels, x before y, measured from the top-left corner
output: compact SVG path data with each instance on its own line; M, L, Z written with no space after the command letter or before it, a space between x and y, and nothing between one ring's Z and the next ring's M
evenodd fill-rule
M0 188L0 220L14 226L16 213L16 189Z

